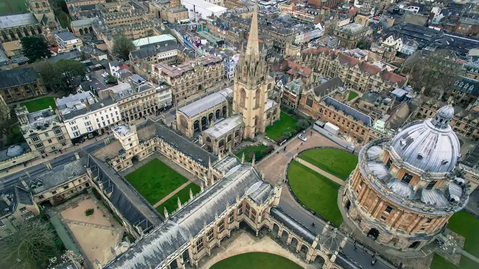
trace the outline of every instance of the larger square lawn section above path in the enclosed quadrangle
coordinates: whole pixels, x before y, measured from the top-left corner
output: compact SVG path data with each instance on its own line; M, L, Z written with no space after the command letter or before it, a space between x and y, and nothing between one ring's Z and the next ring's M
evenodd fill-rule
M188 180L173 168L154 159L126 176L126 179L152 205Z

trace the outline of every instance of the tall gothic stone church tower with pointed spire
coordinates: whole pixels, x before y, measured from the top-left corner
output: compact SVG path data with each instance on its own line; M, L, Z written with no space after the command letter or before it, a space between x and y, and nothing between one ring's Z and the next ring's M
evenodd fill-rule
M274 81L268 77L264 46L261 54L258 44L258 3L254 4L246 51L241 48L240 61L235 71L233 113L243 116L244 137L254 138L266 127L267 91Z

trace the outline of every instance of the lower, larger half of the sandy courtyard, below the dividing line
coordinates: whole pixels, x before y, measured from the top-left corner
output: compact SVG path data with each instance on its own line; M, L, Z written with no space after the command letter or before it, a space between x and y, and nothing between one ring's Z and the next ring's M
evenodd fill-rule
M118 242L117 231L71 223L68 227L94 268L101 268L113 258L111 248Z

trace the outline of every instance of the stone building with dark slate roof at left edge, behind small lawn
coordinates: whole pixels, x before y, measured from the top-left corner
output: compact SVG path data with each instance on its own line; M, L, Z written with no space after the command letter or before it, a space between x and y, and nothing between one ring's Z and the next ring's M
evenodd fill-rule
M47 94L39 75L31 66L0 71L0 93L7 103Z

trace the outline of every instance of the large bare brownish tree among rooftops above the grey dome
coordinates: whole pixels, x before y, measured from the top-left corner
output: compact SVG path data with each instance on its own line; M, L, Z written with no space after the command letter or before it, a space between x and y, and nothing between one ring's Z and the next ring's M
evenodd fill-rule
M429 55L423 53L405 66L411 68L412 80L416 86L426 87L426 93L435 88L448 91L451 83L463 72L462 65L452 59L451 53L439 50Z

